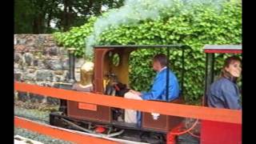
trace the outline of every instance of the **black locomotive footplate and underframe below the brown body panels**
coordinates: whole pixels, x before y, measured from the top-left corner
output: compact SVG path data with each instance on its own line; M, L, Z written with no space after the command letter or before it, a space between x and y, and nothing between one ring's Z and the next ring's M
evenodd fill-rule
M66 122L69 121L69 122ZM71 125L70 125L71 124ZM103 126L107 130L112 130L113 138L120 138L134 142L149 142L149 143L166 143L166 133L158 130L143 129L136 124L126 122L92 122L91 120L81 120L77 118L70 118L58 112L50 113L50 125L59 126L71 130L80 130L83 132L92 132L97 134L91 128ZM73 126L72 126L73 125ZM83 129L85 128L85 129ZM104 134L109 134L109 132ZM123 131L119 133L119 131ZM118 134L119 133L119 134ZM110 135L110 134L109 134Z

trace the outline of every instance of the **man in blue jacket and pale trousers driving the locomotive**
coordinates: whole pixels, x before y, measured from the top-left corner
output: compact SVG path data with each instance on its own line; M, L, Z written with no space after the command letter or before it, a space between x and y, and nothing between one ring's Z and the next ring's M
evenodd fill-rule
M167 58L165 54L157 54L153 59L153 70L158 74L154 78L153 86L148 92L138 92L130 90L124 96L125 98L139 99L139 100L162 100L171 101L178 98L179 86L178 79L171 70L167 70ZM168 99L166 99L166 72L169 73L169 92ZM125 122L136 123L140 120L140 115L137 116L136 110L125 111Z

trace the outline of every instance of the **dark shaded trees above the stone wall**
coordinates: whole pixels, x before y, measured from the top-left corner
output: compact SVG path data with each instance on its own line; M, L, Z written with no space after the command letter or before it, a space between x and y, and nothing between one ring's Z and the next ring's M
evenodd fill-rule
M90 16L102 14L102 8L123 5L124 0L15 0L14 34L51 34L82 26ZM50 26L53 22L55 26Z

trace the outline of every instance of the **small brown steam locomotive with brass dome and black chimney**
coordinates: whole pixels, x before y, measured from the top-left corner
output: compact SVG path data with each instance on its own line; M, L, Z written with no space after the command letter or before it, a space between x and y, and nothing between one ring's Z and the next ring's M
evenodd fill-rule
M186 46L94 46L94 68L87 62L87 67L81 68L80 82L62 83L59 88L123 97L129 90L130 53L142 48L166 48L169 54L169 50L174 48L184 53ZM70 65L72 64L74 65L74 62L70 62ZM70 66L70 69L74 69L74 66ZM74 70L71 70L70 74L74 77ZM183 103L182 96L172 102ZM61 100L60 110L50 114L50 125L107 138L129 140L133 143L166 143L166 134L183 120L162 114L154 118L153 114L142 112L140 124L126 123L123 121L123 111L109 106Z

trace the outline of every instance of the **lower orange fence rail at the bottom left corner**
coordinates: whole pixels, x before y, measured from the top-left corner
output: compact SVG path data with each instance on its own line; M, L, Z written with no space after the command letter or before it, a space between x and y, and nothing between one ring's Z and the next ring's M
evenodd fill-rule
M38 122L33 122L25 118L14 117L14 126L24 128L27 130L36 131L40 134L50 135L53 138L60 138L62 140L75 142L75 143L91 143L91 144L117 144L118 142L106 140L103 138L94 138L86 134L78 133L74 130L66 130L63 128L58 128L56 126L49 126L46 124L40 124Z

